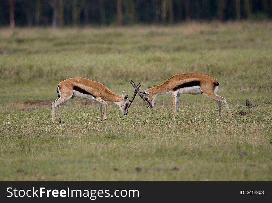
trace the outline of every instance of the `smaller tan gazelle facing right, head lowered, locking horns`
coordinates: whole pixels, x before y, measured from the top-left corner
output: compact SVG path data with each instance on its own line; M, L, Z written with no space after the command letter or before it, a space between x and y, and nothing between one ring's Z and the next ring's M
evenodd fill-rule
M59 98L52 103L52 123L55 123L55 108L57 107L58 122L61 122L62 115L60 104L69 99L73 99L74 97L97 101L102 121L105 121L107 118L108 105L106 101L117 104L120 107L122 114L127 115L128 108L136 96L136 91L134 91L131 99L128 99L128 95L125 95L125 91L123 91L122 95L117 95L100 82L95 82L86 78L69 78L58 84L57 95ZM104 118L102 104L105 107Z

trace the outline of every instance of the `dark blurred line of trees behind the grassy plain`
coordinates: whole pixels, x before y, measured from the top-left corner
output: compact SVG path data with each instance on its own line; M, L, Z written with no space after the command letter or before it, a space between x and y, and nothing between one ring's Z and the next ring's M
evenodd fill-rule
M271 19L272 0L0 0L0 26Z

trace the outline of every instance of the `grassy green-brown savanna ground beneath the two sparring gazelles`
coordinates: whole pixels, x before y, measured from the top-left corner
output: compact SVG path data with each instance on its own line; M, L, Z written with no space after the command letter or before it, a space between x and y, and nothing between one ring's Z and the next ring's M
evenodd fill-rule
M0 180L272 180L272 22L173 27L0 29ZM127 116L94 101L62 105L58 82L85 77L129 94L173 74L219 81L234 114L204 95L155 108L137 96ZM237 108L250 99L257 108ZM237 116L241 110L247 115ZM57 119L57 112L56 112Z

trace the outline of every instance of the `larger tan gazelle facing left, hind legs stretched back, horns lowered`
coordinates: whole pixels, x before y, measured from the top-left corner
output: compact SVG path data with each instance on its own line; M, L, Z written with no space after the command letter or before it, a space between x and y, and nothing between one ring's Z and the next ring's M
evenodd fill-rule
M132 81L133 82L133 81ZM131 83L131 82L130 82ZM227 108L230 118L232 112L227 105L225 98L216 94L219 83L215 78L200 73L176 74L161 85L152 87L145 91L140 91L135 83L131 83L137 94L147 102L148 108L153 108L155 99L159 95L172 94L173 97L173 119L177 116L177 103L182 94L202 94L216 101L219 105L219 116L221 116L221 103Z

